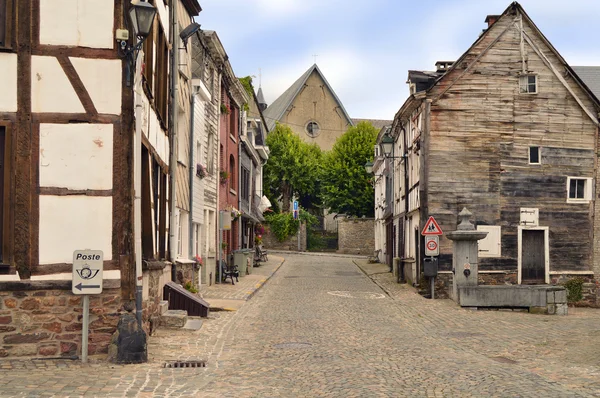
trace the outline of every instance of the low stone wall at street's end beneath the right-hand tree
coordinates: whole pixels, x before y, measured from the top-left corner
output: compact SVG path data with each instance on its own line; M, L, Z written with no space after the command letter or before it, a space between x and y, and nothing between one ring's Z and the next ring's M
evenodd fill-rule
M338 252L372 256L375 252L375 220L339 216Z

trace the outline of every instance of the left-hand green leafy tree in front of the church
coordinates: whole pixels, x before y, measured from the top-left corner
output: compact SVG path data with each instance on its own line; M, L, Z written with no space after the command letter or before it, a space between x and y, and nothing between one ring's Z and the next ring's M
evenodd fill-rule
M277 124L267 136L269 161L264 166L263 185L267 197L281 200L282 211L290 210L292 196L315 195L321 150L303 142L285 125Z

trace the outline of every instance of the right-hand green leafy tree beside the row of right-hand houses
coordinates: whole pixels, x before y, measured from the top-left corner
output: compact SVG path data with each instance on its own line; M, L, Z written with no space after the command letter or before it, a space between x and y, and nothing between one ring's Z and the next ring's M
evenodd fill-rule
M377 129L369 122L350 127L323 162L321 195L334 213L374 216L374 191L365 163L373 159Z

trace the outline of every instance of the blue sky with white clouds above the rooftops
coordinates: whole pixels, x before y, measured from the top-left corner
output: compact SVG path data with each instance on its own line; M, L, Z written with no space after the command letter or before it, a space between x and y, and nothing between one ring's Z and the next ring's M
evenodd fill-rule
M571 66L600 65L600 0L522 0ZM271 104L316 60L352 118L388 119L408 70L458 59L507 0L200 0L196 21L221 39L238 77ZM315 57L316 55L316 57Z

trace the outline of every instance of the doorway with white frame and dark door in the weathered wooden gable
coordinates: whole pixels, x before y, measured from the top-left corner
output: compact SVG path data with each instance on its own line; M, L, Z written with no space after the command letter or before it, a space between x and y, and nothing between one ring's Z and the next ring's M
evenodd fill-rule
M549 282L548 227L519 227L519 283L525 285Z

